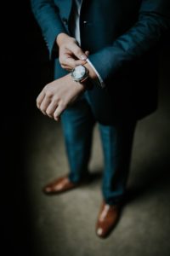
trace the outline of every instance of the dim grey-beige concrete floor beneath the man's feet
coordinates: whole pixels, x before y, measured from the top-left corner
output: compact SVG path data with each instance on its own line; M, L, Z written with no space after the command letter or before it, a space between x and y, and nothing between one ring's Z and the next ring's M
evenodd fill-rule
M170 255L170 94L166 81L162 83L160 108L137 126L127 204L116 229L105 240L94 232L102 200L103 169L97 126L90 162L90 171L96 178L81 188L50 197L42 194L43 185L68 172L64 138L60 124L37 111L26 143L31 255Z

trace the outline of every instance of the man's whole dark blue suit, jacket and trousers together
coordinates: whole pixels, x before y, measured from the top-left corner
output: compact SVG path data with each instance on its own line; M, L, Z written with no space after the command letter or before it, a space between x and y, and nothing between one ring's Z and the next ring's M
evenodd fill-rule
M54 59L55 79L67 73L59 65L55 39L60 32L71 35L71 6L71 0L31 0L49 57ZM94 84L65 111L62 120L74 181L78 179L76 169L82 173L88 168L92 128L99 122L105 154L104 197L109 203L124 191L136 120L156 110L158 49L169 28L169 0L82 2L81 47L89 50L89 60L106 86L102 89ZM75 126L77 120L79 127ZM68 128L68 124L72 126ZM80 149L83 154L77 164Z

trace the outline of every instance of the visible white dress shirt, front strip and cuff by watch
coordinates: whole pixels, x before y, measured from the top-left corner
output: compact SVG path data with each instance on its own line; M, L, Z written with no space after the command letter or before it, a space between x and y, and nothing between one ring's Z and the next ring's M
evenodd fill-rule
M82 0L74 0L74 8L71 12L71 32L73 33L74 37L77 39L78 44L81 46L81 38L80 38L80 12L82 7ZM92 64L89 59L87 59L88 64L94 69L94 72L97 74L99 79L99 85L104 88L105 83L103 79L100 77L98 71L95 69L94 65Z

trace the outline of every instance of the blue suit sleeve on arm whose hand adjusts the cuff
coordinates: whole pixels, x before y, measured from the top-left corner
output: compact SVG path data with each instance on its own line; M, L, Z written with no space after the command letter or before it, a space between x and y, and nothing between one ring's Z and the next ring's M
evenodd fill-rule
M65 27L59 18L59 11L53 0L31 0L31 9L42 29L42 36L48 46L49 58L58 50L55 39Z

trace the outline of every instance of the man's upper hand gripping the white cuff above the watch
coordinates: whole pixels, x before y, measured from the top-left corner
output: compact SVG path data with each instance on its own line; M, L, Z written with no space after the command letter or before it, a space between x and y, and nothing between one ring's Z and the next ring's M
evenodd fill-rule
M74 67L86 63L88 51L84 53L77 45L75 38L71 38L65 33L59 33L56 43L59 46L59 63L64 69L71 71Z

